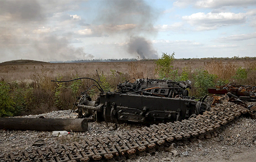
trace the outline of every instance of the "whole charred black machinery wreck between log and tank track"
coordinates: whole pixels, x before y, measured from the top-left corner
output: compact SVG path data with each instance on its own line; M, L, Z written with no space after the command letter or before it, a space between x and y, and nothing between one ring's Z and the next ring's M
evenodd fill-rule
M117 85L118 91L101 91L96 101L83 94L76 103L80 118L96 121L153 124L188 119L207 110L204 98L188 97L190 83L160 79L137 79ZM86 112L86 113L84 113Z

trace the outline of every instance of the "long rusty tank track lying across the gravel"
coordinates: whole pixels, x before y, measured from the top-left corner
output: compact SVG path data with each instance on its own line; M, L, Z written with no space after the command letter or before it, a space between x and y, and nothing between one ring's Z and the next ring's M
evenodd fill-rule
M154 153L156 150L162 150L166 144L174 140L206 136L212 130L247 112L248 109L234 103L218 104L196 118L181 122L151 125L114 136L87 138L81 143L75 142L44 150L4 154L0 156L0 162L120 161L135 158L137 155L145 155L146 152Z

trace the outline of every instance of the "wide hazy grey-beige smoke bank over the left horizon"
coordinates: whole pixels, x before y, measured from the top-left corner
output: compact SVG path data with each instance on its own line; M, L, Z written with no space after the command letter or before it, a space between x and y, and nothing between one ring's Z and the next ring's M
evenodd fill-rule
M72 8L69 1L0 1L0 57L36 60L91 59L70 44L71 35L54 33L49 19ZM68 7L66 7L68 6ZM38 55L39 54L39 55Z

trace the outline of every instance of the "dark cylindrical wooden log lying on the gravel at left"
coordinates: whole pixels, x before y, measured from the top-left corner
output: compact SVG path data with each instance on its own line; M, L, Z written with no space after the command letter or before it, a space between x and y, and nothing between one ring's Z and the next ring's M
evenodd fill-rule
M0 118L0 129L85 132L87 119Z

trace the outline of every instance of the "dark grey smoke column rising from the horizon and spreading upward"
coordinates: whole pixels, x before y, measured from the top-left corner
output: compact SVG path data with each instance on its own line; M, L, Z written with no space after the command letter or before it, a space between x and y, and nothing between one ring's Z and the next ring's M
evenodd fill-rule
M159 15L156 9L145 1L105 1L103 7L96 22L104 25L104 32L125 35L124 48L133 56L158 58L152 42L146 39L157 34L153 27Z

